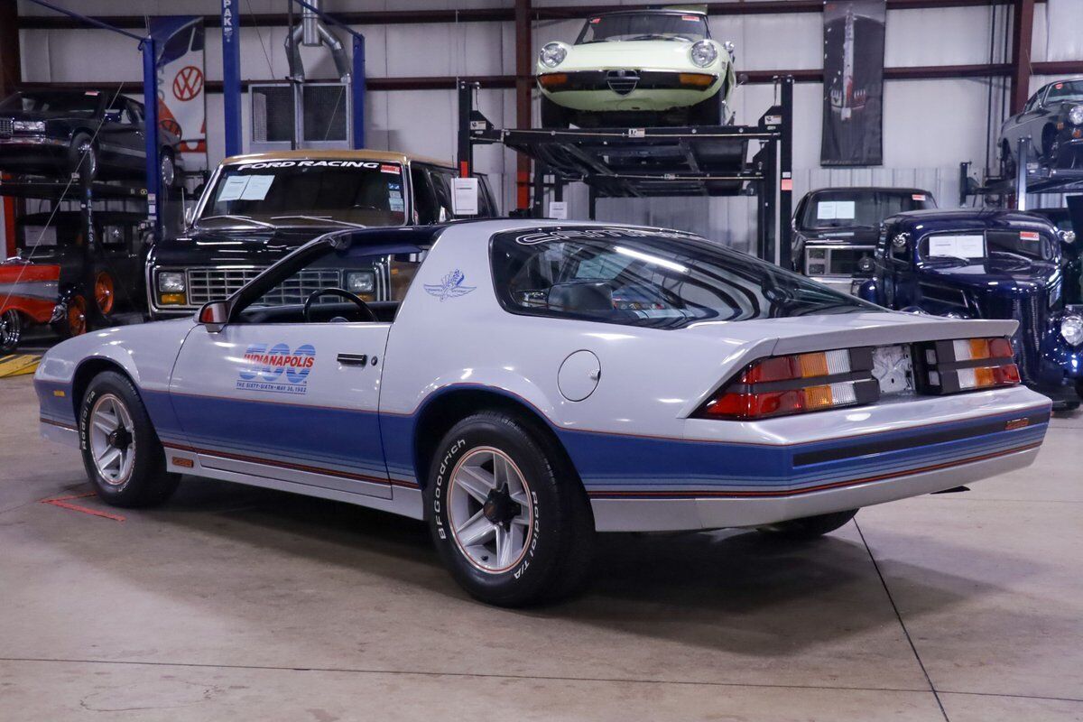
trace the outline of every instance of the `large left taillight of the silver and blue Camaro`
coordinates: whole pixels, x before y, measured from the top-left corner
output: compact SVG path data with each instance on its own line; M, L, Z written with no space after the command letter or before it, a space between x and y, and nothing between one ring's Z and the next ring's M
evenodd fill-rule
M871 404L879 398L872 349L772 356L747 366L693 416L764 419Z

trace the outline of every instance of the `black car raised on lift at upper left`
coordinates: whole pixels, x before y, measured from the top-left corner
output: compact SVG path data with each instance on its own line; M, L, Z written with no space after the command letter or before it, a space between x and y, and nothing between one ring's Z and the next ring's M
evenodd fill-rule
M63 178L78 170L91 180L145 179L143 118L143 104L116 91L19 91L0 102L0 170ZM158 129L166 187L179 180L179 142Z

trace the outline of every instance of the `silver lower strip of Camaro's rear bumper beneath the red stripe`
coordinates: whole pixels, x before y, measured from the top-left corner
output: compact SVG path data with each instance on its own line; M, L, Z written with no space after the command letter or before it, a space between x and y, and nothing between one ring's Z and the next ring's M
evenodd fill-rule
M1034 462L1040 445L1039 442L940 468L915 469L888 478L857 481L845 486L803 490L788 496L593 498L590 504L599 531L681 531L762 526L942 491L1023 469Z

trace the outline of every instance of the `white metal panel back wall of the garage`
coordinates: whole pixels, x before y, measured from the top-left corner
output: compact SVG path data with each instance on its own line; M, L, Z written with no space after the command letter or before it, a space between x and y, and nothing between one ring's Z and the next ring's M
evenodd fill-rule
M1073 32L1051 28L1049 4L1035 8L1032 62L1081 61L1083 48ZM1064 0L1078 2L1078 0ZM80 13L108 16L146 14L213 15L218 0L65 0L62 4ZM138 9L135 5L138 4ZM280 79L287 74L283 50L285 27L253 27L253 13L284 13L286 0L238 0L242 13L242 77L245 80ZM377 0L356 2L327 0L325 10L409 11L449 8L504 8L507 0ZM535 8L583 4L575 0L534 0ZM612 2L606 2L606 5ZM641 4L641 3L627 3ZM19 2L21 15L52 15L32 3ZM995 31L994 31L995 18ZM550 40L574 40L582 19L535 22L534 50ZM890 10L887 18L886 67L980 65L1002 63L1010 49L1010 5ZM461 22L354 26L366 38L369 78L511 76L514 74L514 32L510 22ZM712 35L736 44L739 70L818 69L822 67L822 16L817 12L715 15ZM134 43L95 29L22 29L21 49L25 82L131 83L141 92L140 58ZM310 79L335 76L324 49L302 49ZM221 80L221 35L207 28L208 81ZM1031 90L1048 81L1034 77ZM988 162L996 167L990 147L987 118L992 110L993 143L1000 121L1007 113L1007 77L930 78L887 80L884 99L884 165L876 168L824 169L820 167L822 86L799 82L795 97L794 191L795 200L805 192L824 186L857 184L924 187L942 206L958 202L958 163L974 162L980 172ZM127 89L126 89L127 91ZM772 102L773 87L747 84L735 93L736 122L754 123ZM480 109L498 127L514 126L514 91L483 89ZM249 104L245 114L248 139ZM537 97L534 99L535 122ZM366 124L368 145L439 158L452 158L456 146L456 96L447 90L373 91L368 93ZM223 155L222 96L207 96L209 162ZM499 188L505 211L514 207L514 154L480 146L475 167L488 173ZM565 199L572 218L586 218L587 194L573 185ZM755 200L752 198L656 198L605 199L599 201L599 218L675 226L708 234L739 248L753 237Z

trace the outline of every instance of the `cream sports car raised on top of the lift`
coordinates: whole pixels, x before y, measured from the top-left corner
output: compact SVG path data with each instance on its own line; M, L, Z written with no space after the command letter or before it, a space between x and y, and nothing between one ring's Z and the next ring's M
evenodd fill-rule
M736 86L732 43L689 10L590 17L573 44L542 48L537 77L543 128L718 126Z

